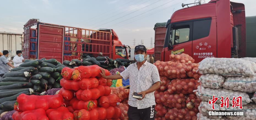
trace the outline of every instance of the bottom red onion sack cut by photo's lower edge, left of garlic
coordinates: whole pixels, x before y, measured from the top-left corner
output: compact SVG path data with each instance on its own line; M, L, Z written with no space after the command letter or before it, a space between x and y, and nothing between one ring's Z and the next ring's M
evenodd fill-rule
M189 110L187 108L177 109L171 108L168 109L168 112L165 114L165 119L171 120L197 120L196 112Z

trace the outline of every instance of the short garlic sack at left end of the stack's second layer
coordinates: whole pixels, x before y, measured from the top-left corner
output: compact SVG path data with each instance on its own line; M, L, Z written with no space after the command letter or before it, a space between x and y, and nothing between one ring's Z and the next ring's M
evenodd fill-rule
M216 74L204 74L201 75L198 82L205 88L218 89L222 88L222 84L225 82L225 78Z

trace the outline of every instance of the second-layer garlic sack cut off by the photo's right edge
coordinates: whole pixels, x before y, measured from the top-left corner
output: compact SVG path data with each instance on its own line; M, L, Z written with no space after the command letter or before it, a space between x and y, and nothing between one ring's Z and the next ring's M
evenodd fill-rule
M223 87L234 91L256 92L256 77L229 77Z

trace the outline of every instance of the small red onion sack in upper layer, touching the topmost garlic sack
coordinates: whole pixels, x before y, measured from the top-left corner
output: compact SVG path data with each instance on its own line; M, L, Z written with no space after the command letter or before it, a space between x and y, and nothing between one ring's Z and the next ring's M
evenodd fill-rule
M198 63L189 62L189 63L184 63L184 64L187 66L185 70L186 70L188 77L195 78L195 79L200 78L200 76L202 74L200 74L199 72L196 72L198 70L198 66L199 66Z

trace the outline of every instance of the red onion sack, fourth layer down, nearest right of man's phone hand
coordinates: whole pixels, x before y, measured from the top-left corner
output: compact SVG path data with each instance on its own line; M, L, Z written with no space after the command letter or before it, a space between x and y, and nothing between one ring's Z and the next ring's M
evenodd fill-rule
M167 91L160 97L161 103L169 108L186 108L186 96L182 93L168 94Z

